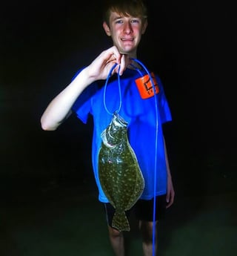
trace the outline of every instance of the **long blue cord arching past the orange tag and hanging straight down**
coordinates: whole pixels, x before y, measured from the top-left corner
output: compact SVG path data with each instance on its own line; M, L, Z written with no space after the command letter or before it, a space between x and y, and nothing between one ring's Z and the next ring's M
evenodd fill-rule
M133 59L133 58L131 58ZM156 254L155 244L156 244L156 168L157 168L157 143L158 143L158 108L157 108L157 99L156 99L156 88L153 82L153 78L150 75L149 70L145 67L145 65L140 62L138 59L133 59L135 62L137 62L139 65L141 65L142 68L147 72L147 74L150 77L150 81L153 85L153 91L154 91L154 98L155 98L155 109L156 109L156 144L155 144L155 167L154 167L154 201L153 201L153 256Z

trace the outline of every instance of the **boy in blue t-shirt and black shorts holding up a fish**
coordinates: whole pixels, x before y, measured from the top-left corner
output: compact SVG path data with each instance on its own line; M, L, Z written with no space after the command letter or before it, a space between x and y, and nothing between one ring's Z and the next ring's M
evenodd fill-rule
M153 93L142 98L136 85L136 79L146 75L138 62L134 61L141 36L147 28L147 7L144 3L140 0L108 1L104 9L103 27L107 36L111 37L113 47L104 50L90 65L81 69L73 81L50 102L41 116L41 127L47 131L56 130L73 111L84 123L87 122L89 114L93 116L93 171L99 188L99 201L104 203L113 250L116 256L124 256L124 236L122 232L112 227L114 209L101 188L98 174L101 132L111 121L111 115L106 111L105 105L110 111L116 111L121 102L119 114L128 122L127 133L130 145L138 158L145 183L144 191L133 209L139 220L144 255L151 256L153 225L156 225L164 210L173 204L175 194L161 127L162 123L171 120L170 109L158 76L156 76L158 92L155 95ZM112 72L104 100L104 79L107 79L116 63L118 65ZM121 80L121 95L118 92L116 74L118 72ZM155 96L157 105L155 105ZM156 109L158 109L158 117L155 113ZM156 118L158 118L158 151L155 157ZM155 160L158 161L156 170L154 170ZM156 191L153 186L154 171L157 177ZM156 194L157 209L155 221L154 194Z

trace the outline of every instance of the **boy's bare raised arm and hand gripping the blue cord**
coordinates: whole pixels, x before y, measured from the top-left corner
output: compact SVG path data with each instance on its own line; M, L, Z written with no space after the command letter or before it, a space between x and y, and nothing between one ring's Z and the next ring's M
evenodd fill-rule
M50 102L41 116L41 128L45 131L55 131L70 116L73 103L88 85L96 80L106 79L115 63L120 64L121 74L128 62L127 56L121 55L115 46L104 50ZM116 67L113 73L118 72L118 70L119 67Z

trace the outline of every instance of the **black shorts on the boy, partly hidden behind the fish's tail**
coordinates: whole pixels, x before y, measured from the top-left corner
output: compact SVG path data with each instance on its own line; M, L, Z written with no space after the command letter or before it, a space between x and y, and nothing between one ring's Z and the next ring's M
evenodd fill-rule
M138 200L136 204L128 211L125 211L127 218L130 218L130 213L133 211L138 220L153 221L153 203L154 200ZM156 197L156 220L164 218L167 202L166 195ZM113 214L115 209L110 203L104 203L107 223L112 226Z

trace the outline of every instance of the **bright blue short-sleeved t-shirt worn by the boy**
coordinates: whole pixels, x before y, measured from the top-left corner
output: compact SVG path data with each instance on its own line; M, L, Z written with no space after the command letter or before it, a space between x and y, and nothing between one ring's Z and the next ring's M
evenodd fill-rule
M143 76L145 74L143 73ZM73 111L82 122L87 123L88 116L90 114L93 116L93 171L99 188L99 201L104 203L108 200L101 188L98 171L101 133L110 124L112 113L119 110L120 104L119 115L128 122L127 136L144 177L145 187L141 199L150 200L154 197L155 176L156 195L166 194L167 191L162 124L171 121L170 108L161 79L156 76L159 89L156 99L154 96L142 99L135 82L139 77L141 71L127 68L120 76L120 83L117 75L110 77L107 86L104 86L105 81L95 82L81 93L73 105ZM156 129L157 124L158 129Z

